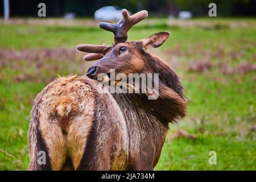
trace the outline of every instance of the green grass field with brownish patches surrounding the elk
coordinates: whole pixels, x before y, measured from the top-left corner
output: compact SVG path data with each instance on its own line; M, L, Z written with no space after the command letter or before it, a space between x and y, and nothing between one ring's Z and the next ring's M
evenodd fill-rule
M155 169L255 170L255 19L220 19L213 26L209 19L197 19L188 27L183 26L186 22L166 22L153 19L129 32L129 40L171 32L167 42L151 52L176 70L189 100L187 117L170 125ZM110 44L113 35L94 24L0 23L0 169L26 170L36 94L58 75L86 73L93 63L82 61L77 44ZM216 151L216 165L208 163L209 151Z

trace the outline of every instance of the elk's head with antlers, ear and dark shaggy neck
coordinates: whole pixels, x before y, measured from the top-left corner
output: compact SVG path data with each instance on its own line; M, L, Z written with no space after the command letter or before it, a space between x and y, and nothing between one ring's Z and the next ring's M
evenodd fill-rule
M183 97L183 87L179 77L172 68L159 57L147 52L148 48L161 46L170 35L169 32L158 32L150 37L135 42L127 42L127 31L134 24L147 17L147 11L140 11L134 15L129 15L127 10L122 10L123 18L117 24L100 23L104 30L114 33L114 44L107 46L96 46L92 44L82 44L77 49L89 52L84 56L84 60L98 60L88 69L86 76L97 79L100 73L109 74L110 69L115 70L115 74L124 73L158 73L159 74L159 95L155 101L146 101L146 94L136 95L135 100L144 109L152 112L165 123L175 121L178 117L185 115L185 99ZM141 89L141 88L140 88ZM146 95L146 96L145 96Z

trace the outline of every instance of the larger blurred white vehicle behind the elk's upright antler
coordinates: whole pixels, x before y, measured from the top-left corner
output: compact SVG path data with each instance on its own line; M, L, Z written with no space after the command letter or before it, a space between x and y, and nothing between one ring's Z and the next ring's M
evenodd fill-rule
M129 15L131 14L128 11ZM104 6L94 13L94 19L100 21L118 21L122 19L122 9L118 6Z

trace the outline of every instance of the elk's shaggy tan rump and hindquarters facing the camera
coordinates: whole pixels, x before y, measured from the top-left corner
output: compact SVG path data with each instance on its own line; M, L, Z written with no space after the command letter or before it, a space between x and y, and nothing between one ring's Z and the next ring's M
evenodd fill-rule
M99 93L102 89L88 77L69 76L56 79L36 97L29 130L28 169L124 168L125 120L113 97ZM47 154L45 165L37 163L39 151Z

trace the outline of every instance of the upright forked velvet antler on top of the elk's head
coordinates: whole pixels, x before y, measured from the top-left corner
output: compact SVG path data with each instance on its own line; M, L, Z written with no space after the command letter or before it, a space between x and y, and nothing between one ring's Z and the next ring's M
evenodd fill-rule
M126 42L127 32L134 24L141 22L141 20L147 18L147 11L139 11L134 15L129 15L126 9L122 10L123 18L119 20L117 24L101 22L100 27L106 31L114 33L115 44Z

